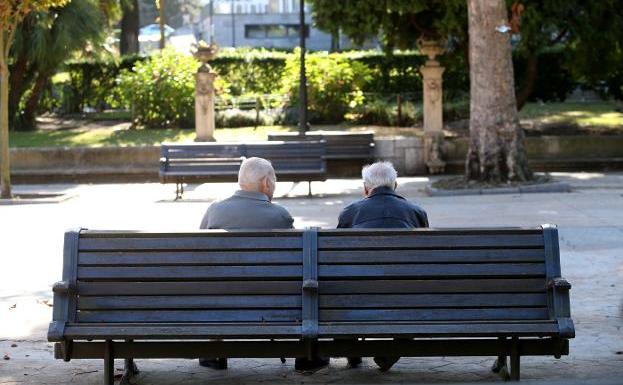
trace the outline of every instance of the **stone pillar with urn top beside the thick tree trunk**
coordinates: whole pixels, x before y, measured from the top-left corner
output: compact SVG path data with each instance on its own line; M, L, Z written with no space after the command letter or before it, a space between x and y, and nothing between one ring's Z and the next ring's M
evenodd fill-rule
M443 53L441 43L434 40L418 40L420 52L428 56L420 67L424 88L424 151L428 172L442 173L446 163L442 160L443 146L443 71L435 58Z

